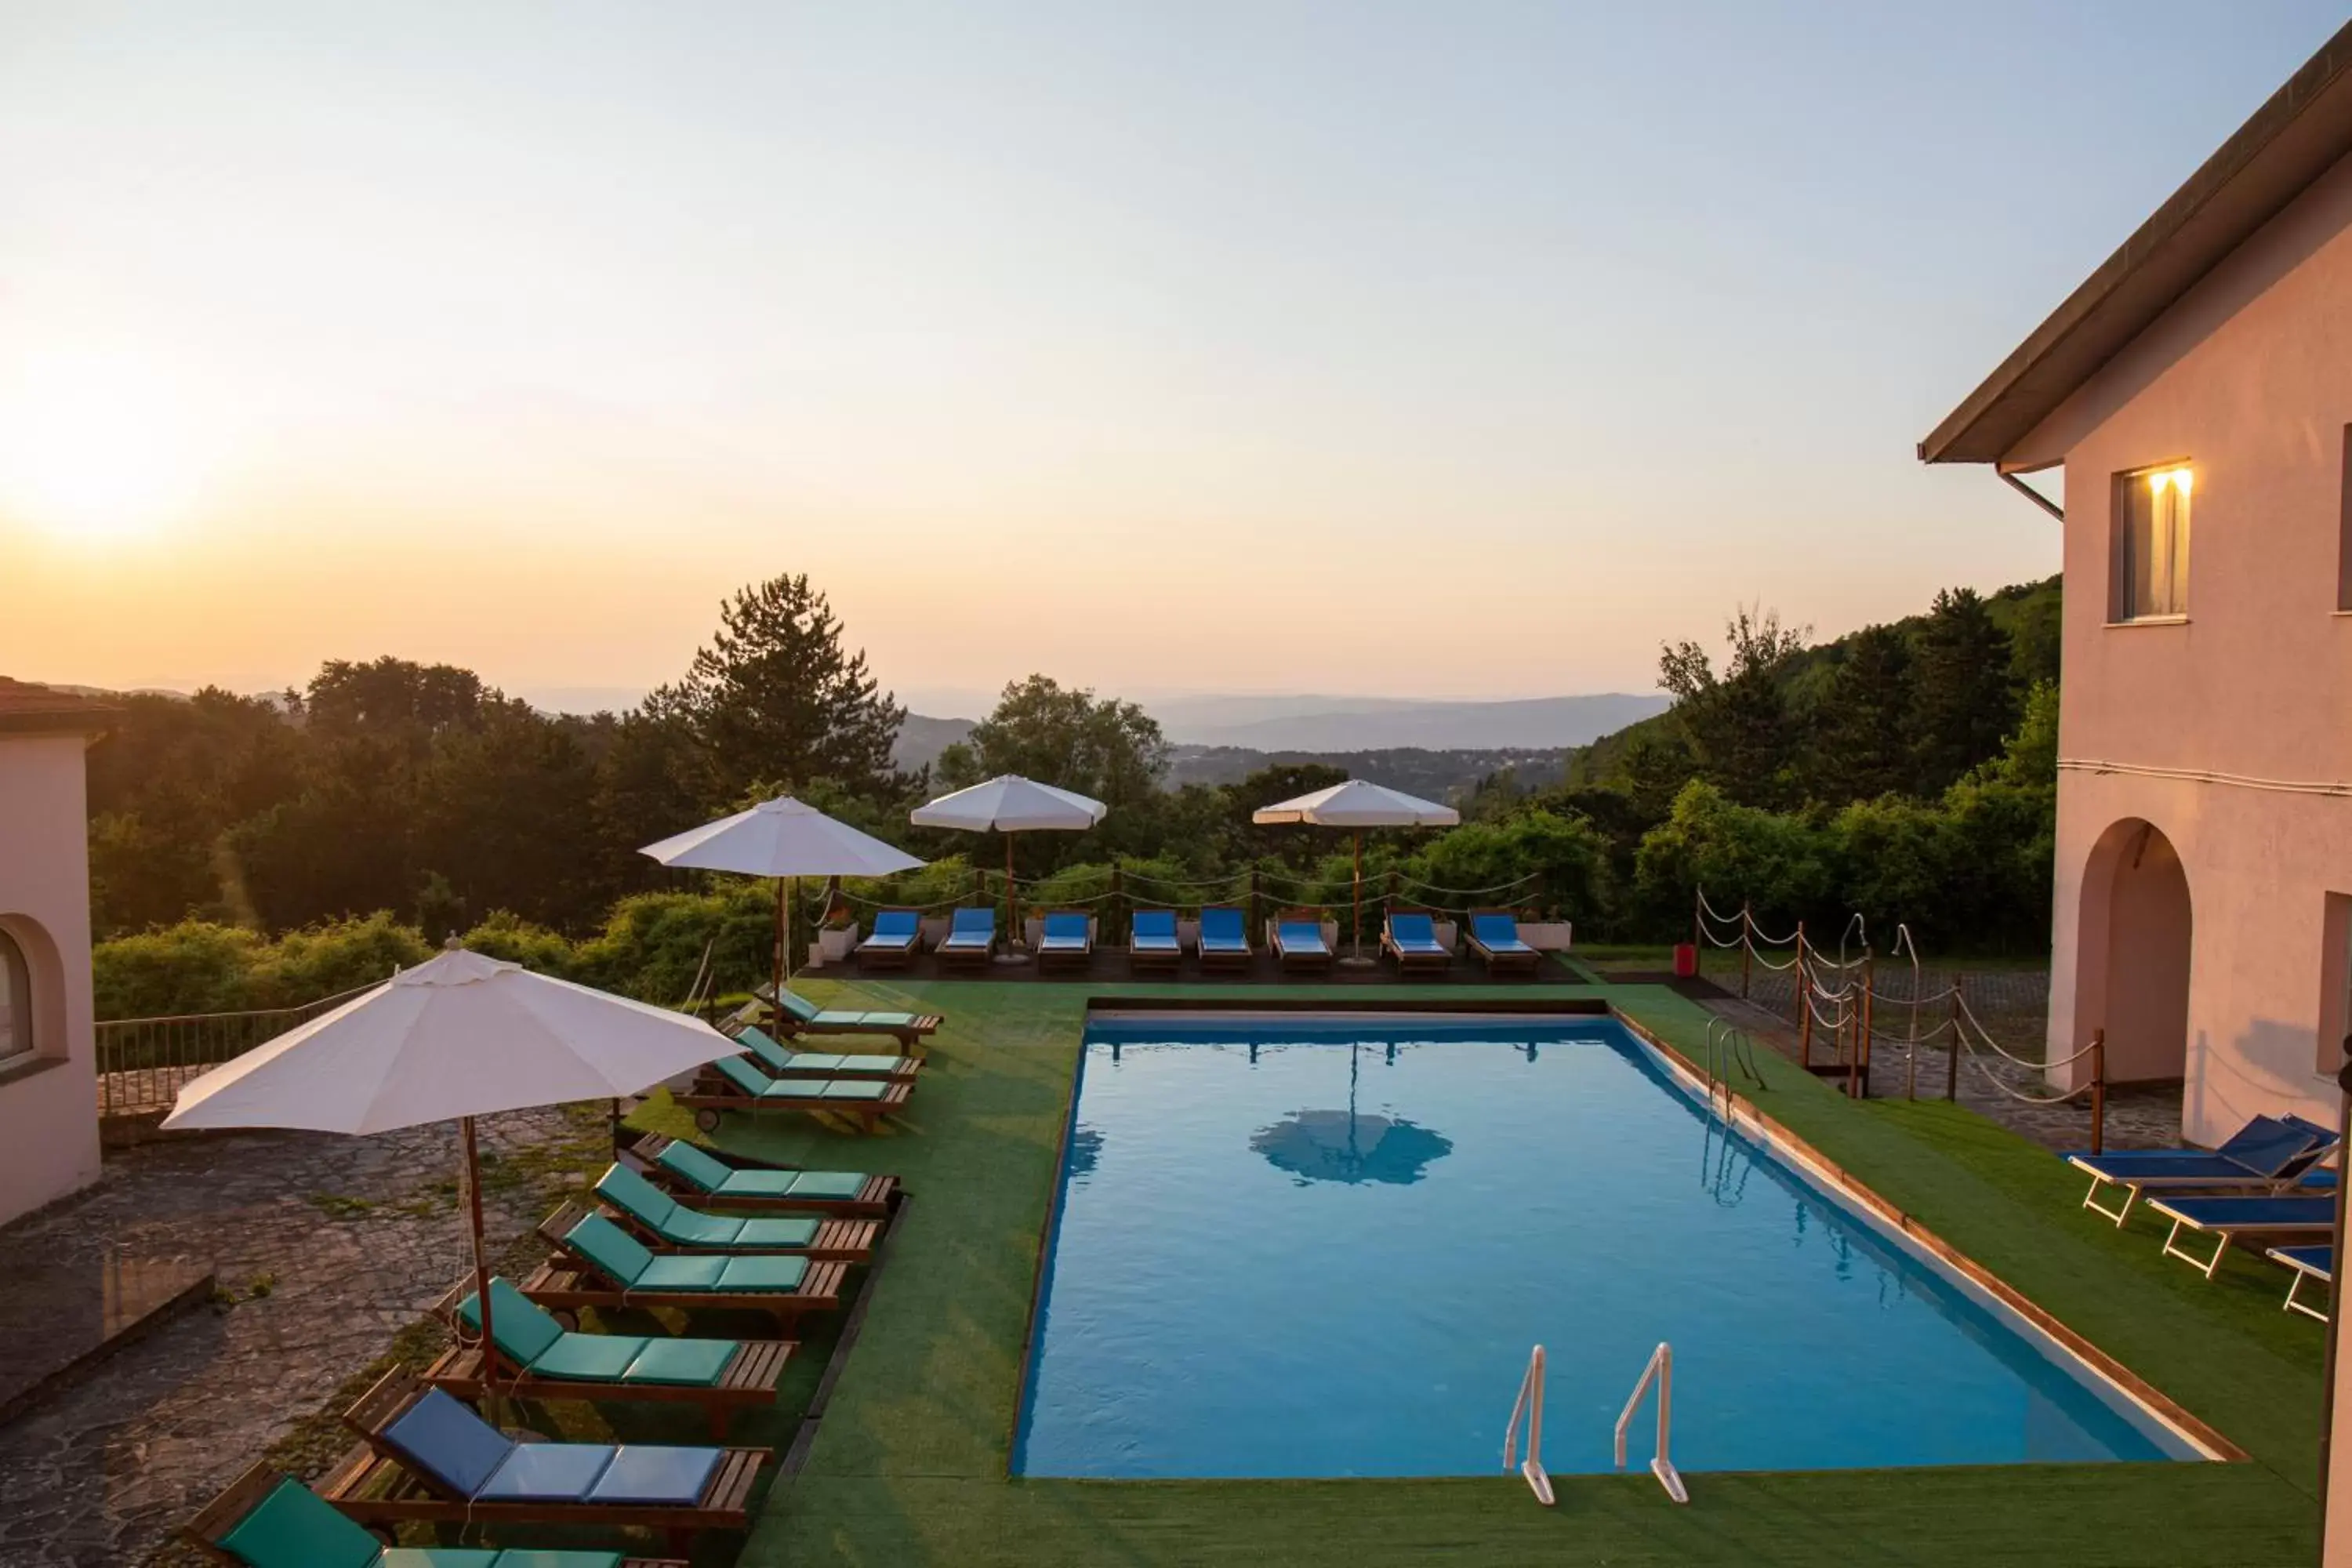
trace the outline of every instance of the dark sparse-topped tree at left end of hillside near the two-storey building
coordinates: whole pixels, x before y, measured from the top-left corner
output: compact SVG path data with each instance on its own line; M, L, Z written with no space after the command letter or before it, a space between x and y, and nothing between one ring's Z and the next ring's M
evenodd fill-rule
M1658 654L1658 684L1675 696L1700 776L1733 799L1771 806L1795 795L1797 731L1783 679L1809 632L1743 604L1724 625L1731 658L1719 677L1696 642Z

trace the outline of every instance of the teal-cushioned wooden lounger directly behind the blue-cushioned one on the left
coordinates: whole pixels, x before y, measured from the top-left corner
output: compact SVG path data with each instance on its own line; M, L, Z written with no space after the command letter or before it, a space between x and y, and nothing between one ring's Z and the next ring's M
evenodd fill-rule
M710 1436L727 1434L736 1410L776 1403L776 1380L793 1340L680 1340L642 1333L572 1333L510 1281L489 1281L489 1356L501 1394L581 1399L588 1403L691 1403L710 1415ZM482 1392L482 1309L473 1279L461 1279L433 1307L461 1338L426 1368L426 1382L461 1399Z

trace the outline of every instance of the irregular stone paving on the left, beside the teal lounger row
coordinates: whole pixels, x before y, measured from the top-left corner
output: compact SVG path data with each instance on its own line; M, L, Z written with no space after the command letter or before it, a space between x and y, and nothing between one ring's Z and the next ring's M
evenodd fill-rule
M562 1110L480 1124L494 1248L564 1180L532 1154L595 1131ZM456 1173L452 1126L165 1138L111 1152L99 1185L0 1229L9 1258L207 1262L233 1298L0 1425L0 1566L120 1568L160 1547L461 1274Z

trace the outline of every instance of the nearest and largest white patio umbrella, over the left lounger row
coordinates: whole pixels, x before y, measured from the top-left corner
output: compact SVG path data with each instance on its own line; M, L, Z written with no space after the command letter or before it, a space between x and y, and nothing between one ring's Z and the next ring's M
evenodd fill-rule
M390 1133L456 1121L470 1194L473 1293L489 1345L473 1119L642 1093L734 1051L731 1039L689 1013L452 947L183 1086L165 1128ZM485 1385L489 1378L485 1354Z

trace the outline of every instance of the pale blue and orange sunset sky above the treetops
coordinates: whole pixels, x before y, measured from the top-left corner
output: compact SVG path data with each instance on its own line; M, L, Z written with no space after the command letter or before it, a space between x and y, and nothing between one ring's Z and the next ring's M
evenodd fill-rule
M1642 691L2056 571L1912 444L2338 24L14 0L0 675Z

